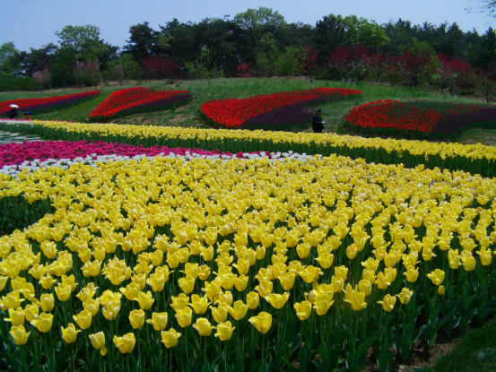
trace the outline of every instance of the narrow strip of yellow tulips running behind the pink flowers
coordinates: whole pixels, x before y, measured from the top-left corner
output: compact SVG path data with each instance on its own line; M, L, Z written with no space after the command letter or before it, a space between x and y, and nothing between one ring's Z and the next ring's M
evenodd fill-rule
M294 151L300 154L344 155L354 159L415 168L465 170L486 177L496 175L496 148L481 144L362 138L338 134L309 134L222 129L188 129L153 125L83 124L33 121L31 125L0 122L0 130L38 134L64 141L94 140L135 146L199 148L231 153Z

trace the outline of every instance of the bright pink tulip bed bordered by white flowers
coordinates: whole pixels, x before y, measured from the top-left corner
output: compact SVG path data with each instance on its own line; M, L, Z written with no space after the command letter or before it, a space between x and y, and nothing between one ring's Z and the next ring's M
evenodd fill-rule
M143 147L133 146L122 143L104 143L104 142L69 142L69 141L35 141L25 143L7 143L0 144L0 167L5 165L18 165L26 160L49 160L49 159L68 159L85 158L87 156L98 157L102 155L118 155L129 156L145 155L157 156L163 153L165 156L170 155L170 152L176 156L186 156L187 152L190 155L202 156L227 156L233 157L231 152L205 151L201 149L183 149L169 147ZM254 154L257 152L253 152ZM238 158L243 158L243 153L237 154Z

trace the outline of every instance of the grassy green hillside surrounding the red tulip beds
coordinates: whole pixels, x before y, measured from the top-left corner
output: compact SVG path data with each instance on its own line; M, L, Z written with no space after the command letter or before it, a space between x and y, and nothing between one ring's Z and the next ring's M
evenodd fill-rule
M300 89L309 89L312 87L333 87L333 88L349 88L359 89L363 92L361 100L347 100L343 102L328 104L323 106L324 119L327 122L325 132L342 133L342 123L344 115L350 108L357 104L369 102L378 99L434 99L434 100L455 100L460 102L474 101L474 99L466 98L451 98L442 96L431 91L417 89L411 91L405 87L391 87L370 84L362 82L360 85L344 82L324 82L317 81L311 84L308 80L283 80L283 79L214 79L214 80L196 80L179 82L174 85L166 84L165 82L144 82L144 86L152 86L160 89L179 89L191 91L193 93L193 101L184 107L178 108L175 111L166 110L151 112L146 114L136 114L129 117L116 119L116 123L126 123L135 125L166 125L166 126L183 126L183 127L208 127L200 117L201 105L210 99L227 99L227 98L244 98L257 94L273 93L276 91L292 91ZM58 111L48 112L35 115L37 119L47 120L67 120L76 122L88 122L88 115L91 110L98 106L103 99L109 97L112 91L122 88L135 86L135 84L126 84L124 86L111 85L102 86L102 94L95 99L83 102L81 105L65 108ZM84 91L90 91L86 89ZM71 94L79 89L45 91L39 92L1 92L0 100L6 99L21 99L34 97L48 97L50 95ZM480 100L477 100L480 102ZM311 131L307 128L306 132ZM490 133L491 132L491 133ZM489 134L489 135L487 135ZM496 144L496 131L481 131L475 130L467 133L461 140L462 143L477 143Z

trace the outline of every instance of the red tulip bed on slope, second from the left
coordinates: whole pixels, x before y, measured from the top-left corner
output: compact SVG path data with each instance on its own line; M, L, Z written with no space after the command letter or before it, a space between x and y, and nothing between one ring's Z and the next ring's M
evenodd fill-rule
M105 122L117 117L177 108L191 101L189 91L160 91L154 88L128 88L114 91L91 111L92 122Z

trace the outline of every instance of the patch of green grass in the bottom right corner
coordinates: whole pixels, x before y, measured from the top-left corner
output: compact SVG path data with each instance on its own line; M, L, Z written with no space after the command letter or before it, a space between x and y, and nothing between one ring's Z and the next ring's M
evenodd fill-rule
M496 371L496 319L466 333L448 355L429 368L415 372L490 372Z

